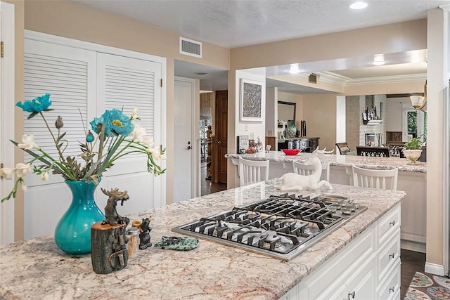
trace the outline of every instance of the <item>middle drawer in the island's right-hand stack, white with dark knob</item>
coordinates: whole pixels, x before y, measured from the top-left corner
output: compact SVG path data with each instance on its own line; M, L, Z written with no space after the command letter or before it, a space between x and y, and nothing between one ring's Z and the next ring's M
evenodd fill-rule
M386 278L387 272L394 266L400 256L400 228L397 228L394 235L387 243L380 246L378 253L378 282Z

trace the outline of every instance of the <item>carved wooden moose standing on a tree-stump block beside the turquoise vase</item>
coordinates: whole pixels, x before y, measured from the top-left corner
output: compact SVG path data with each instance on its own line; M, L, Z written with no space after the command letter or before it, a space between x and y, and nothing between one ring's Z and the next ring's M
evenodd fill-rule
M109 196L105 207L105 220L91 226L92 268L98 274L108 274L127 266L127 233L129 219L117 214L117 202L129 199L127 191L101 189Z

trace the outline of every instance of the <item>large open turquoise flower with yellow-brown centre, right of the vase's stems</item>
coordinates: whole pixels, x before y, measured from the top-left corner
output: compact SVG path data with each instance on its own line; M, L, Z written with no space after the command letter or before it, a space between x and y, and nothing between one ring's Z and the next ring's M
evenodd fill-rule
M131 123L131 119L123 114L117 108L113 110L106 110L99 118L94 118L91 121L92 130L97 134L101 131L102 124L105 124L105 136L109 136L110 133L129 136L134 130L134 125Z

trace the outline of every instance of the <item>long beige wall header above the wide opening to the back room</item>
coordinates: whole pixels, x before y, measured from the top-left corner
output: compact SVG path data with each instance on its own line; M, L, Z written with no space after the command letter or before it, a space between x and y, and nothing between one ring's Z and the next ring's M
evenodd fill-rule
M427 20L231 49L231 69L373 56L427 48ZM330 69L332 70L332 69Z

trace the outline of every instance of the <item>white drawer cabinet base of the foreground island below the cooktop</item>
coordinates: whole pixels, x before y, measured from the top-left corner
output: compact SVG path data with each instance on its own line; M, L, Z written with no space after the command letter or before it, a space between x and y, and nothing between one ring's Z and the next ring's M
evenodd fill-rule
M281 297L399 299L400 204Z

